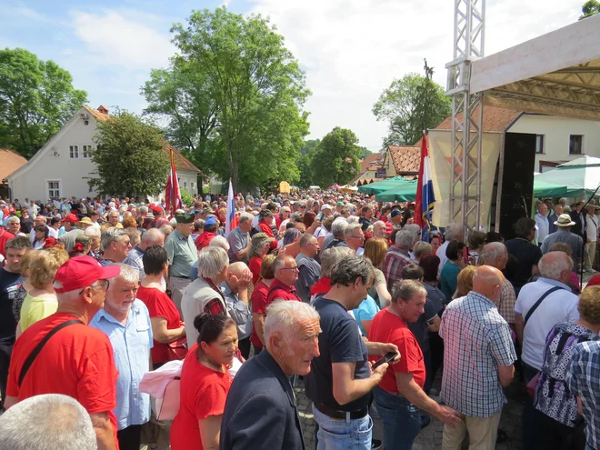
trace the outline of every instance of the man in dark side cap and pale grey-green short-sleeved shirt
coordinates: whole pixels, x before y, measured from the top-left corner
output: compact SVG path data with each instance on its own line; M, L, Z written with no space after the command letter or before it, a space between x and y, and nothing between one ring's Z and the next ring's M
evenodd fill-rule
M175 220L177 221L175 230L165 240L166 255L169 258L167 284L171 289L171 299L177 306L179 314L182 314L181 299L184 296L185 288L191 283L190 269L198 260L198 251L191 236L194 215L175 213ZM192 322L194 322L194 318L192 318Z

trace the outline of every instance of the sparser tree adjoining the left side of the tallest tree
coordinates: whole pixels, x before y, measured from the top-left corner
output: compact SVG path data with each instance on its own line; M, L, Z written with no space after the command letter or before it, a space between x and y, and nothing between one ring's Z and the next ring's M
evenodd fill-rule
M142 87L148 102L145 115L165 118L165 136L210 175L213 168L212 135L217 125L214 97L205 71L194 61L174 57L168 69L155 69Z

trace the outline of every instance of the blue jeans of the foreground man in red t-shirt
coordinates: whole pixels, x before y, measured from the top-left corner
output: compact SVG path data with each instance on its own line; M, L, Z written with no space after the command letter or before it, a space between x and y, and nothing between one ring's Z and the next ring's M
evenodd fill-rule
M411 450L421 433L421 413L402 395L393 395L376 386L373 390L377 412L384 421L385 450Z

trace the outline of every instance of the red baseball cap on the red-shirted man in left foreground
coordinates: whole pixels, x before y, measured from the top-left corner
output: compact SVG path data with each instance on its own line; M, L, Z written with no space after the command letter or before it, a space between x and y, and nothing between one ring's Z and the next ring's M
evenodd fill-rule
M121 273L118 265L100 265L92 256L75 256L56 271L55 281L63 287L55 287L57 293L83 289L98 280L114 278Z

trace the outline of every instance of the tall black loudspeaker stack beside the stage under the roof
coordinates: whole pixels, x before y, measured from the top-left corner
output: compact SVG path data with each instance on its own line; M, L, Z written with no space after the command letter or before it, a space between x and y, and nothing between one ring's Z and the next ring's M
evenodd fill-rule
M500 165L502 158L499 158ZM500 169L500 167L498 167ZM515 222L531 217L534 195L535 135L505 133L500 201L500 234L515 237Z

